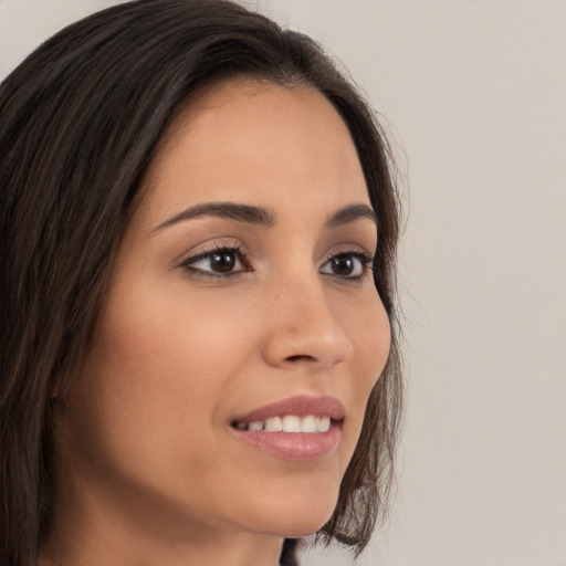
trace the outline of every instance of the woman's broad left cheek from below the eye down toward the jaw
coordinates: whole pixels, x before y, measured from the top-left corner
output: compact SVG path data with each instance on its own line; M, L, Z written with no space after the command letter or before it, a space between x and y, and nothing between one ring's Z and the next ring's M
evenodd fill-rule
M130 286L101 315L74 419L111 458L172 464L213 441L249 339L226 303L189 298Z

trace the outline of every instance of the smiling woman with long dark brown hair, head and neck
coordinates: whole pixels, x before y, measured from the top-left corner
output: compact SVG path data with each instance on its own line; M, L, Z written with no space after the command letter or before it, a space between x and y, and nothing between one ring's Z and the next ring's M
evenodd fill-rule
M223 0L77 22L0 85L0 562L359 553L400 409L384 137Z

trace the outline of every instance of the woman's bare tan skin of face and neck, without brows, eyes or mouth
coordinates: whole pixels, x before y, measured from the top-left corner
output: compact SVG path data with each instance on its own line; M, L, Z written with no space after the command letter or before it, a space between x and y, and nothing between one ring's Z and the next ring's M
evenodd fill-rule
M328 263L347 253L357 269L353 254L376 248L369 218L326 226L346 206L369 207L355 147L318 92L227 82L176 118L142 193L55 421L41 563L275 566L283 536L329 518L389 350L370 271L350 279ZM167 224L208 202L276 221ZM182 265L214 245L245 253L235 274L211 274L210 256ZM344 405L332 453L296 462L234 436L234 416L297 395Z

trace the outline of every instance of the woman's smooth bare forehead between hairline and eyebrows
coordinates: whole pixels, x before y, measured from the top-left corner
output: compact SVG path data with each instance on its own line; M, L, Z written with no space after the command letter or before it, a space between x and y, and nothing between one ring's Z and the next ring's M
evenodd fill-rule
M155 218L214 200L295 210L369 203L349 130L323 94L243 80L191 98L143 190Z

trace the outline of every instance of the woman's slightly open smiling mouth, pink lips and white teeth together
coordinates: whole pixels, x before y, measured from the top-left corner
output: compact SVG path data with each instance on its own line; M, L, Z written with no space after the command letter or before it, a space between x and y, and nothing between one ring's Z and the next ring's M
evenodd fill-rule
M294 397L231 421L248 444L285 460L306 462L336 451L344 423L343 405L332 397Z

